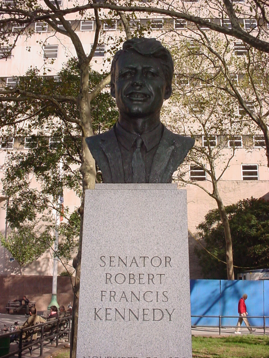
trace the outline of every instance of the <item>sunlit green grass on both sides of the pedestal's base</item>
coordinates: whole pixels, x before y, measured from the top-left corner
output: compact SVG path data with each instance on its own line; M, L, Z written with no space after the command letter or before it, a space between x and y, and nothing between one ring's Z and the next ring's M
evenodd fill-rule
M269 337L242 335L227 337L192 337L193 358L269 358ZM53 354L69 358L69 349Z

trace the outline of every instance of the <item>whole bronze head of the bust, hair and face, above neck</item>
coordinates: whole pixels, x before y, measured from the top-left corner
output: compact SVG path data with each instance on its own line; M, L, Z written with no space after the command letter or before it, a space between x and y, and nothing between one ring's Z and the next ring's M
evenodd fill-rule
M170 52L156 39L133 38L115 53L110 92L120 115L154 116L171 96L174 64Z

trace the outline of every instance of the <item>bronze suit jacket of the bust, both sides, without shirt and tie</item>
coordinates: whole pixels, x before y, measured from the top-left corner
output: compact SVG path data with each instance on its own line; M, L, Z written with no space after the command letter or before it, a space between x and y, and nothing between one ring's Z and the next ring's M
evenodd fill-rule
M107 132L87 137L86 143L103 175L104 183L124 183L121 151L114 127ZM148 183L171 183L172 175L182 163L194 139L169 131L164 126L156 150Z

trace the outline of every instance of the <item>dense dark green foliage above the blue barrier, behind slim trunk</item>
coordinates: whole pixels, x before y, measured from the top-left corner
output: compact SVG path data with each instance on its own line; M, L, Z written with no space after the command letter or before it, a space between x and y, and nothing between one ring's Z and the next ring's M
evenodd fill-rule
M269 268L269 202L263 199L240 200L227 205L235 273ZM218 210L211 210L197 227L198 236L209 253L197 246L196 253L204 275L225 279L224 230ZM212 256L213 255L213 256Z

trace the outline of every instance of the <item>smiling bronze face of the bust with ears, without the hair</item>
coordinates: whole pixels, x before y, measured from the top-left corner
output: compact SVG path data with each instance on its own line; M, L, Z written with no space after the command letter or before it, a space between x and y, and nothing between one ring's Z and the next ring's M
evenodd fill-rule
M135 51L124 52L116 62L111 94L120 115L146 117L160 113L164 99L171 95L158 58Z

